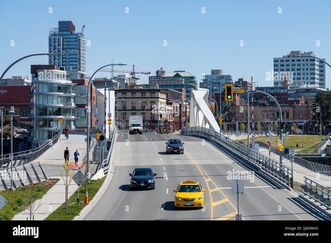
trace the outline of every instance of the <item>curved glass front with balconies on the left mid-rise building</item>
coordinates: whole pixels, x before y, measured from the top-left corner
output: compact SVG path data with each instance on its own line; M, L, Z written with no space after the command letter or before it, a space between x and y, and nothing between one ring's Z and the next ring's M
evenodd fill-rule
M75 86L67 79L63 70L38 70L38 76L32 80L33 93L31 125L33 126L33 143L39 146L51 139L54 122L54 136L59 132L57 128L75 126ZM86 89L85 89L86 92ZM86 110L86 109L84 109ZM59 122L63 118L63 122ZM86 121L85 121L86 124ZM86 125L85 125L86 126Z

